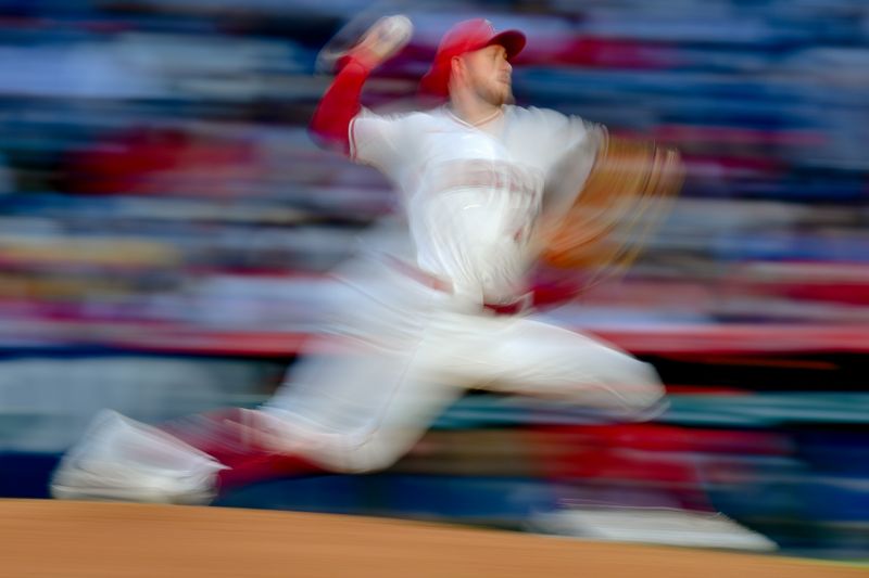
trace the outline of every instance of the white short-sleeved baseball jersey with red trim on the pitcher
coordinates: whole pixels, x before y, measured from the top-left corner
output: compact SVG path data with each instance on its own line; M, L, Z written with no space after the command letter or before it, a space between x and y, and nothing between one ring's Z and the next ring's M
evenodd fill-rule
M456 295L496 303L525 291L546 177L587 138L582 119L541 108L504 106L479 126L446 107L363 110L350 126L350 154L402 192L416 265L449 280Z

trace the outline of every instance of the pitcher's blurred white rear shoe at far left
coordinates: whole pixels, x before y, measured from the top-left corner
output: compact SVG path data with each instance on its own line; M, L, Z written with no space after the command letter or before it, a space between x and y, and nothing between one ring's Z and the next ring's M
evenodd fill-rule
M105 410L63 457L50 488L63 500L205 504L225 468L165 432Z

